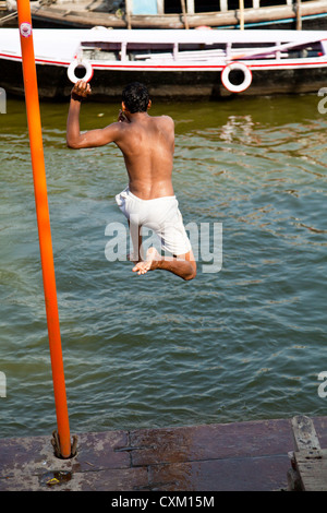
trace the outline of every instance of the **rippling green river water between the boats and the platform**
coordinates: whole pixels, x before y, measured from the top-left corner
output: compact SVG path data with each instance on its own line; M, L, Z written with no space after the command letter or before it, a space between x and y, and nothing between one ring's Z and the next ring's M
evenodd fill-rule
M318 100L154 102L152 115L175 120L184 223L208 227L222 258L206 272L216 253L198 254L192 282L136 276L122 254L108 260L108 226L125 226L114 202L126 186L123 158L114 145L69 150L68 105L41 104L72 432L326 414L327 115ZM118 110L84 104L82 129ZM0 123L7 438L57 423L24 102L8 99Z

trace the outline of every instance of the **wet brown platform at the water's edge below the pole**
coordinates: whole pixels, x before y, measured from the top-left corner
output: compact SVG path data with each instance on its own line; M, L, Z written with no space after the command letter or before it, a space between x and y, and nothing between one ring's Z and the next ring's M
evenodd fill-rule
M313 421L327 446L327 417ZM281 491L294 450L291 419L77 437L71 460L53 455L51 436L0 440L0 490Z

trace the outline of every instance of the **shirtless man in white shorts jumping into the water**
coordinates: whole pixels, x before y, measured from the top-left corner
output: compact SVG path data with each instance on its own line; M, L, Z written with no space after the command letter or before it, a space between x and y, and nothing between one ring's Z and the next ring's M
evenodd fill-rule
M70 102L66 143L69 147L78 150L113 142L122 152L129 186L117 194L116 201L129 220L134 248L131 258L134 261L133 271L145 274L161 269L185 281L193 279L196 263L171 182L173 120L169 116L149 116L147 110L152 102L147 88L133 82L122 92L122 110L117 122L81 133L81 102L89 94L88 83L76 82ZM152 247L143 258L142 226L153 229L161 241L161 248L172 256L161 256Z

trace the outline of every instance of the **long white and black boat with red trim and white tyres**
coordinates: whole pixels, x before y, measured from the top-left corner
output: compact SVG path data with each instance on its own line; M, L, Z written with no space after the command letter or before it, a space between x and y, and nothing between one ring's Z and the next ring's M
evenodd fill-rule
M120 100L147 84L155 100L317 93L327 83L327 32L35 28L40 98L90 80L93 98ZM0 86L23 94L19 31L0 29Z

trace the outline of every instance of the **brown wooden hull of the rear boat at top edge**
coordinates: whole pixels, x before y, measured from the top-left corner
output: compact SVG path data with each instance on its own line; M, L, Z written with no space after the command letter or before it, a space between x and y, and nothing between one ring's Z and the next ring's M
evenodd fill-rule
M219 2L217 2L219 3ZM245 27L255 28L295 28L296 9L293 5L284 4L261 7L257 9L244 9ZM183 29L185 23L190 28L207 25L210 27L234 27L240 26L241 12L239 9L229 11L189 13L186 19L183 14L153 14L117 15L100 11L93 11L90 8L78 10L78 4L74 10L64 9L64 4L52 3L47 5L40 2L33 2L32 16L34 26L75 27L90 28L102 25L112 28L161 28L161 29ZM312 0L302 2L301 5L302 28L326 29L326 2L325 0Z

